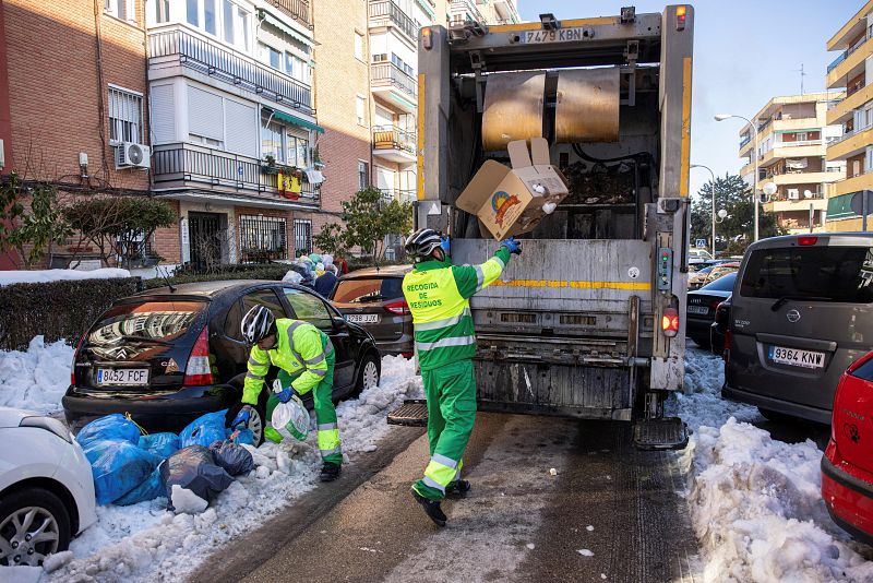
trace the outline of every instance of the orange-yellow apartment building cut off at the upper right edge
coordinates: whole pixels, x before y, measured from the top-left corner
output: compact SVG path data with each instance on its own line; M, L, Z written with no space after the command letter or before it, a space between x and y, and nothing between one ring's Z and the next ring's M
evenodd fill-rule
M846 170L834 183L827 201L827 230L862 230L862 214L873 212L868 193L873 190L873 0L866 2L827 41L839 51L827 68L826 86L845 88L845 97L827 111L827 122L844 128L842 138L828 145L827 159L842 162ZM865 204L866 202L866 204Z

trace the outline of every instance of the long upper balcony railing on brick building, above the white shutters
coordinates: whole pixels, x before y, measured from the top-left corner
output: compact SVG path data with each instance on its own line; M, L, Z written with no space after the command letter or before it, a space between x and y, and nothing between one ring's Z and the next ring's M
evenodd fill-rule
M296 79L271 69L216 41L182 28L164 28L148 34L150 59L178 57L184 67L205 73L309 115L312 91Z

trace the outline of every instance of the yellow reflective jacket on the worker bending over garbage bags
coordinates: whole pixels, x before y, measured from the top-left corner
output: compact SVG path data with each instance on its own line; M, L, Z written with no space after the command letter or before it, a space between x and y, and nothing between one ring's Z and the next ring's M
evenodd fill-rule
M276 320L276 345L262 350L255 344L249 354L242 402L258 403L271 362L295 379L291 386L297 394L308 393L327 374L326 358L333 352L327 334L312 324L289 318Z

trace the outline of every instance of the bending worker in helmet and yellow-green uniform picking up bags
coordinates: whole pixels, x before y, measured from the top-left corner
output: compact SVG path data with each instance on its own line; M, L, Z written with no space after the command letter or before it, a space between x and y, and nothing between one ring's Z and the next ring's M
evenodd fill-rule
M255 306L242 318L242 337L252 347L242 388L242 402L246 405L234 418L231 427L248 425L251 416L256 414L254 405L258 404L264 379L270 365L275 365L279 368L278 379L285 389L277 395L271 395L266 418L271 418L276 398L287 403L294 393L302 396L312 391L323 462L321 480L333 481L339 476L343 451L332 400L336 356L331 338L308 322L289 318L276 320L264 306ZM265 432L270 429L266 428Z

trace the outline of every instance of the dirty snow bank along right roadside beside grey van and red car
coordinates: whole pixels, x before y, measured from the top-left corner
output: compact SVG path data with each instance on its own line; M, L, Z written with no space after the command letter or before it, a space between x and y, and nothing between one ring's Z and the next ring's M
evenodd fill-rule
M704 581L873 581L873 562L858 552L864 547L825 509L822 451L751 425L757 411L723 401L722 382L721 359L690 349L686 393L671 403L694 431L689 502Z

